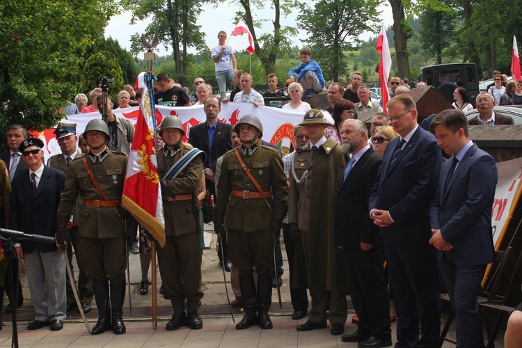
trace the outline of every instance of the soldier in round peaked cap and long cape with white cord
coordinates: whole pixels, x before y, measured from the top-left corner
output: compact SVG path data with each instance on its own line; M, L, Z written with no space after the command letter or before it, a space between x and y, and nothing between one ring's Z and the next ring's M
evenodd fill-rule
M347 154L341 146L324 137L329 123L323 113L311 109L302 125L310 141L296 151L290 171L288 222L292 235L300 237L306 264L296 264L294 287L310 289L312 308L308 321L296 327L310 331L326 327L326 310L331 294L328 319L331 334L344 332L347 318L342 253L333 240L333 203Z

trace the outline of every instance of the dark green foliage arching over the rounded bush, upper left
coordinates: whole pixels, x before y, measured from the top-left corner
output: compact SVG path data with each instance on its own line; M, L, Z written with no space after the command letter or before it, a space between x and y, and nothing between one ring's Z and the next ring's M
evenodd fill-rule
M88 49L85 57L88 58L99 51L111 52L118 60L118 64L120 65L123 74L123 82L134 86L134 81L139 74L138 69L136 68L136 61L132 58L132 55L129 54L129 52L122 49L118 40L114 40L110 37L96 40L95 45Z

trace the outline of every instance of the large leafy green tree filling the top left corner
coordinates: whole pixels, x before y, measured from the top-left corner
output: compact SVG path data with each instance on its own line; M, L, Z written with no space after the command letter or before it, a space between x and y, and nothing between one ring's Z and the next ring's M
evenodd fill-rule
M85 49L117 12L116 0L0 1L0 129L56 125L77 93Z

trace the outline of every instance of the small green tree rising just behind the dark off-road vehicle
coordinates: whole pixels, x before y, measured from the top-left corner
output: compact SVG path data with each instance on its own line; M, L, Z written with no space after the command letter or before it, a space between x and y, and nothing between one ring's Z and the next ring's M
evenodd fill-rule
M442 52L454 42L455 17L457 13L448 7L428 6L420 14L420 42L422 48L437 57L442 63Z

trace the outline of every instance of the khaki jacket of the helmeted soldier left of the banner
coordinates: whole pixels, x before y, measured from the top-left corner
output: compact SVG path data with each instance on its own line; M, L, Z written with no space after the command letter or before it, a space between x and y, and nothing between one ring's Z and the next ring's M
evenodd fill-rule
M90 157L86 156L87 165L109 200L121 200L129 157L120 152L112 152L109 148L106 148L106 152L107 155L101 163L98 159L93 163ZM65 189L61 194L58 207L58 231L65 232L77 198L104 199L90 180L83 157L77 157L71 162L65 177ZM79 211L78 234L88 238L124 237L125 226L114 209L118 209L125 219L125 210L122 207L94 207L82 203Z

